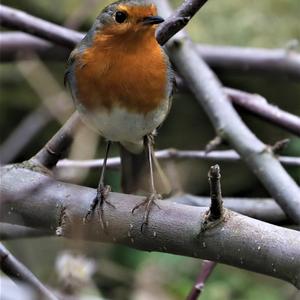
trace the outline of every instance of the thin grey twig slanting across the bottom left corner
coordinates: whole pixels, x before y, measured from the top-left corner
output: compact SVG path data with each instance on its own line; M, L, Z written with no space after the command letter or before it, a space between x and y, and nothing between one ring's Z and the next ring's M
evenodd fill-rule
M1 270L16 283L25 283L31 287L39 296L39 299L57 300L57 298L31 273L21 262L19 262L0 243Z

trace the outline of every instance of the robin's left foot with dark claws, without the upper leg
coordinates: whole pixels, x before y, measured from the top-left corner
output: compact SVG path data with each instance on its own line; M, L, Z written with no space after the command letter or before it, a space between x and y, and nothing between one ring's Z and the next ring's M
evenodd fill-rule
M104 205L104 203L106 203L106 204L110 205L111 207L115 208L115 206L107 200L107 197L110 192L111 192L111 187L109 185L100 184L98 186L97 195L94 198L93 202L91 203L90 208L87 211L87 213L83 219L84 223L87 223L90 220L90 217L92 216L94 211L97 209L101 227L102 227L102 229L105 228L103 205Z

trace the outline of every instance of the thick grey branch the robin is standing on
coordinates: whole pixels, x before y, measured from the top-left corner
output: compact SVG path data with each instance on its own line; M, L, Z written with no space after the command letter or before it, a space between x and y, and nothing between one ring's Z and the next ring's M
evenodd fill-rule
M300 287L299 232L225 210L225 221L201 232L207 208L160 201L149 226L140 232L143 211L131 213L144 198L110 193L102 231L97 214L82 219L95 190L55 181L22 167L1 172L1 221L44 228L63 236L117 242L147 251L199 257L290 281Z

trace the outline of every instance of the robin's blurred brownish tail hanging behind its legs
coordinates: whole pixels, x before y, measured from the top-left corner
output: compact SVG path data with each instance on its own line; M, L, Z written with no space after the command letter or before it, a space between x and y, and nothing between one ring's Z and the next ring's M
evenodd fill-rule
M120 145L120 153L123 192L144 195L150 193L150 166L146 147L141 153L134 154ZM171 193L171 184L154 153L151 155L156 191L161 195L168 195Z

